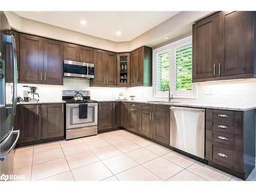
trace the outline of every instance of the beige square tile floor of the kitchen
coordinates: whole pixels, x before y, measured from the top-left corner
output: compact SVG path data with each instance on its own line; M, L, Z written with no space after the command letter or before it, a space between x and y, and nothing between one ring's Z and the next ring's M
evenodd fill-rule
M14 174L26 181L241 181L124 130L18 148Z

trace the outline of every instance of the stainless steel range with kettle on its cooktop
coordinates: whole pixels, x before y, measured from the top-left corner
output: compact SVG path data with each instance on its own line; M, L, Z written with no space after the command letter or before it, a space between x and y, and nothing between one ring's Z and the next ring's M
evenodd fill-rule
M66 101L66 139L98 134L98 103L90 91L63 90Z

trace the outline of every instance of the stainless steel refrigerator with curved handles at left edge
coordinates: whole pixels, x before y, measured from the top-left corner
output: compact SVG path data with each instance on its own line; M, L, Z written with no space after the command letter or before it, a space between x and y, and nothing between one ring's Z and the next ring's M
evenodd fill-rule
M17 60L15 39L3 11L0 12L0 180L13 173L13 148L19 131L13 130L17 98ZM5 175L3 175L5 174Z

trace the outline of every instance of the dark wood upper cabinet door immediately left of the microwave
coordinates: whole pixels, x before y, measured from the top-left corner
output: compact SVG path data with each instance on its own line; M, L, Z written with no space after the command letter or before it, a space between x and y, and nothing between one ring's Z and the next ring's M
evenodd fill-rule
M44 80L48 84L63 84L63 43L44 39Z

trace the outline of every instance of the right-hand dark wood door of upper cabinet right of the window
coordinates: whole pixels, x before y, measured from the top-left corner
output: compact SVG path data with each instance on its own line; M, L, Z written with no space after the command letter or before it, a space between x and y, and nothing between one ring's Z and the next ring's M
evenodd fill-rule
M219 13L219 55L221 76L253 73L253 11Z

